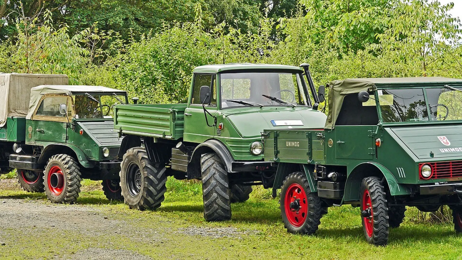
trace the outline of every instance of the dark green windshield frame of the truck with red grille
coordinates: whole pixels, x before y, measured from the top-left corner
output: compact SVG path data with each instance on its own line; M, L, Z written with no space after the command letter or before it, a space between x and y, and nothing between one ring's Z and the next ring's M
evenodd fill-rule
M402 86L396 86L396 85L383 85L383 86L377 86L377 90L375 90L374 96L378 96L378 91L379 90L389 90L389 89L422 89L423 94L424 94L424 99L426 103L426 109L428 113L428 120L425 121L406 121L406 122L383 122L383 117L382 117L382 108L380 107L378 99L376 99L376 107L377 107L377 113L378 113L378 118L379 118L379 124L383 124L386 126L403 126L403 125L434 125L434 124L461 124L462 119L458 120L434 120L431 114L431 109L430 109L430 104L428 102L427 98L427 89L435 89L435 88L444 88L444 85L449 85L451 87L455 88L462 88L462 84L460 83L455 83L455 82L438 82L438 83L432 83L432 84L403 84ZM461 89L462 90L462 89Z

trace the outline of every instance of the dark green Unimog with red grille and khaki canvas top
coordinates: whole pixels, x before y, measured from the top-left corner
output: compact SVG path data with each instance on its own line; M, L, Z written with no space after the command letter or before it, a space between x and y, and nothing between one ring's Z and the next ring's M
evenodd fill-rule
M351 204L366 240L385 245L405 206L449 205L461 233L462 80L346 79L327 88L322 127L262 134L265 161L278 163L273 187L286 229L312 234L327 207Z

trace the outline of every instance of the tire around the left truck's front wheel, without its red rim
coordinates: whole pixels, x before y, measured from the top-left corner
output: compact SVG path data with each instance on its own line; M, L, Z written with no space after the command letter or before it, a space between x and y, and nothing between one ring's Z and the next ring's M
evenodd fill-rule
M53 155L47 162L47 165L51 161L59 161L64 166L64 171L66 171L65 181L66 181L66 190L64 192L64 196L60 199L55 199L49 196L48 192L47 197L51 202L54 203L61 203L61 204L73 204L79 198L80 187L82 186L80 182L82 181L82 173L80 173L80 167L77 161L70 156L70 155ZM45 168L46 170L46 168ZM43 171L43 175L47 174ZM45 178L43 178L45 181ZM47 185L44 183L45 189Z

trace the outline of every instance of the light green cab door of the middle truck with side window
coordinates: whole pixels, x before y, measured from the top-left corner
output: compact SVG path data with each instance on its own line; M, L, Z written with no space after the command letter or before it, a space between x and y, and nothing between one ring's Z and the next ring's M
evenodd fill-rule
M204 142L215 136L216 125L213 126L217 114L216 76L215 74L194 74L192 92L188 108L184 111L183 140L187 142ZM205 112L201 104L202 86L210 87L210 100L205 104ZM206 120L207 118L207 120ZM207 125L208 122L208 125Z

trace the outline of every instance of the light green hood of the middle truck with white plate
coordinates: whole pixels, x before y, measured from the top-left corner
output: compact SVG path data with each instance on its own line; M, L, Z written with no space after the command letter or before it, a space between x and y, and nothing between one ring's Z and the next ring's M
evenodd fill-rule
M324 129L327 118L321 111L311 108L253 109L226 117L244 138L261 136L265 129Z

